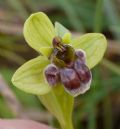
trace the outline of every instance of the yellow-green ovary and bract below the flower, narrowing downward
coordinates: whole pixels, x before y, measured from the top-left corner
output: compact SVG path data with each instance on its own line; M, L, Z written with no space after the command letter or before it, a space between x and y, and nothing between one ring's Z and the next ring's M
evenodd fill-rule
M74 98L64 90L62 85L57 85L48 94L38 97L43 105L58 119L63 129L73 129L71 116Z

